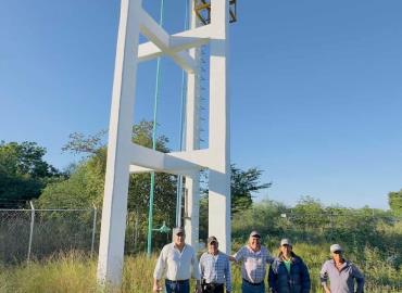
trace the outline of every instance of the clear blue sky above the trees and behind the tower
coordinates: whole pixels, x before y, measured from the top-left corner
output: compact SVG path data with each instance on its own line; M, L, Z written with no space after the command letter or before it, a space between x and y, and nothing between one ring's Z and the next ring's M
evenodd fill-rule
M184 0L165 0L165 28ZM143 0L155 18L160 1ZM264 169L259 199L388 208L402 188L402 2L238 0L230 26L231 161ZM36 141L59 168L74 131L109 124L120 1L3 1L0 140ZM134 122L151 119L155 62ZM178 148L181 72L162 61L160 133ZM206 114L205 114L206 115ZM203 132L206 136L206 131Z

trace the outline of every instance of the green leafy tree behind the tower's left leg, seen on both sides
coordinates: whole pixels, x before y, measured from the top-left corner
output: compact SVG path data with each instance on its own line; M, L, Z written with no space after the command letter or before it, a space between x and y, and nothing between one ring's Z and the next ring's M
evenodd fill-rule
M133 126L133 141L137 144L152 146L152 123L140 122ZM102 207L104 175L106 167L106 146L102 136L73 133L64 151L85 153L87 156L73 168L67 180L49 184L39 198L38 206L58 208L88 208L95 204ZM168 139L156 138L156 150L168 152ZM165 220L168 227L174 226L176 196L176 177L168 174L155 174L154 187L154 225ZM128 188L128 222L126 229L126 250L141 251L146 246L148 228L148 206L150 198L150 174L131 174ZM166 242L166 235L154 234L155 243Z

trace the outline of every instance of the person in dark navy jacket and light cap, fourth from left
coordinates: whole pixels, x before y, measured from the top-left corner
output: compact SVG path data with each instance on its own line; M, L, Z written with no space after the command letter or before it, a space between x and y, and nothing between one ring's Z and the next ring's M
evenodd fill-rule
M310 273L304 262L292 251L289 239L282 239L279 255L271 265L268 283L273 293L309 293Z

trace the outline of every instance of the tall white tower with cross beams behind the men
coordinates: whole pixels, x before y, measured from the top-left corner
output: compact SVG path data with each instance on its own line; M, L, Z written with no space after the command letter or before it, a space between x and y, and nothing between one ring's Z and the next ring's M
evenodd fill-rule
M129 173L164 171L186 177L188 242L198 247L199 171L209 176L209 234L230 253L230 139L228 28L235 0L193 0L190 29L168 35L142 9L141 0L122 0L109 127L108 163L99 247L98 280L122 279ZM206 14L203 14L205 12ZM205 16L206 15L206 16ZM202 24L202 26L198 26ZM149 42L139 44L139 34ZM210 44L209 146L199 150L197 48ZM137 64L167 55L188 74L186 148L161 153L131 142Z

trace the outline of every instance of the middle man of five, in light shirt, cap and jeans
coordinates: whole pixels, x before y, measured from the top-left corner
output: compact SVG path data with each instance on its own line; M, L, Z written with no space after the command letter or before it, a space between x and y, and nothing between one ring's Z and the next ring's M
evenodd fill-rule
M269 251L261 245L261 234L252 231L249 243L242 246L230 260L241 263L241 292L242 293L264 293L266 265L272 263Z

